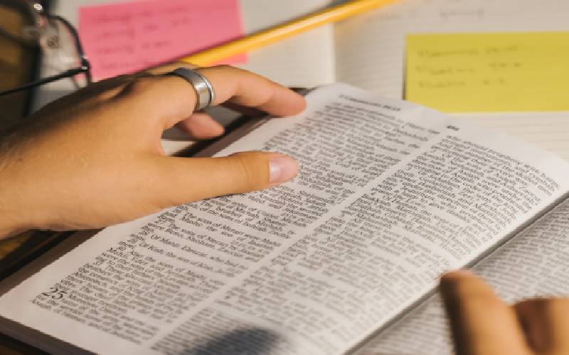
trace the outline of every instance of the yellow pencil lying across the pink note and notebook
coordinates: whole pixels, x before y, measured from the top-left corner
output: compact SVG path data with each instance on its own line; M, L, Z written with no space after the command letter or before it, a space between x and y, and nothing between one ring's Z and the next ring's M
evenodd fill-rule
M284 38L308 31L309 29L340 21L346 17L357 15L364 11L378 8L394 2L395 0L352 0L345 4L332 6L328 9L311 13L307 16L297 18L288 23L268 28L264 31L253 33L252 35L238 38L228 43L218 45L213 48L203 50L188 57L181 58L182 62L189 62L195 65L210 65L219 60L238 55L250 50L260 48L264 45L275 43Z

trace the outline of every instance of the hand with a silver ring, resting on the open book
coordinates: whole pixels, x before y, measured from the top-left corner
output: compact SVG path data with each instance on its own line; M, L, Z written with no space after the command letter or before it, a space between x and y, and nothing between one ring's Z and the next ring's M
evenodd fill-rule
M188 82L159 75L104 80L38 111L0 136L0 236L27 229L95 229L206 197L260 190L297 173L286 155L237 153L223 158L164 155L160 138L177 124L194 138L223 127L193 113ZM277 116L297 114L304 98L234 67L199 69L230 102Z

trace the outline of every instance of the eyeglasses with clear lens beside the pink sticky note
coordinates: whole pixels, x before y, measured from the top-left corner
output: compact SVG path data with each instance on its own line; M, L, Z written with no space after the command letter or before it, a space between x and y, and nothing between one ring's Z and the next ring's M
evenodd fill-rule
M23 14L24 21L15 26L0 23L0 36L26 47L41 50L44 72L49 75L28 84L0 92L0 96L32 89L65 78L78 89L92 82L90 63L79 35L65 18L43 12L43 6L26 0L0 0L4 7ZM53 74L52 74L53 73Z

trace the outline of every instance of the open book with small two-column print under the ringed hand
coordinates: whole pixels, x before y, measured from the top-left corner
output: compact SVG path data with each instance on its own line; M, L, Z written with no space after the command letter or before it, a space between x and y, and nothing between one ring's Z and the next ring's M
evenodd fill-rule
M287 153L297 178L38 261L0 285L1 332L55 354L445 354L442 272L569 292L568 163L346 84L307 102L219 153Z

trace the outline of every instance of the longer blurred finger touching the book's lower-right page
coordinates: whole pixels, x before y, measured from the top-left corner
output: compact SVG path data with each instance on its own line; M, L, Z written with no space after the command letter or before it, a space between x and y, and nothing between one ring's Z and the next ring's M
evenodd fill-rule
M469 271L442 276L440 293L459 355L529 355L516 312Z

